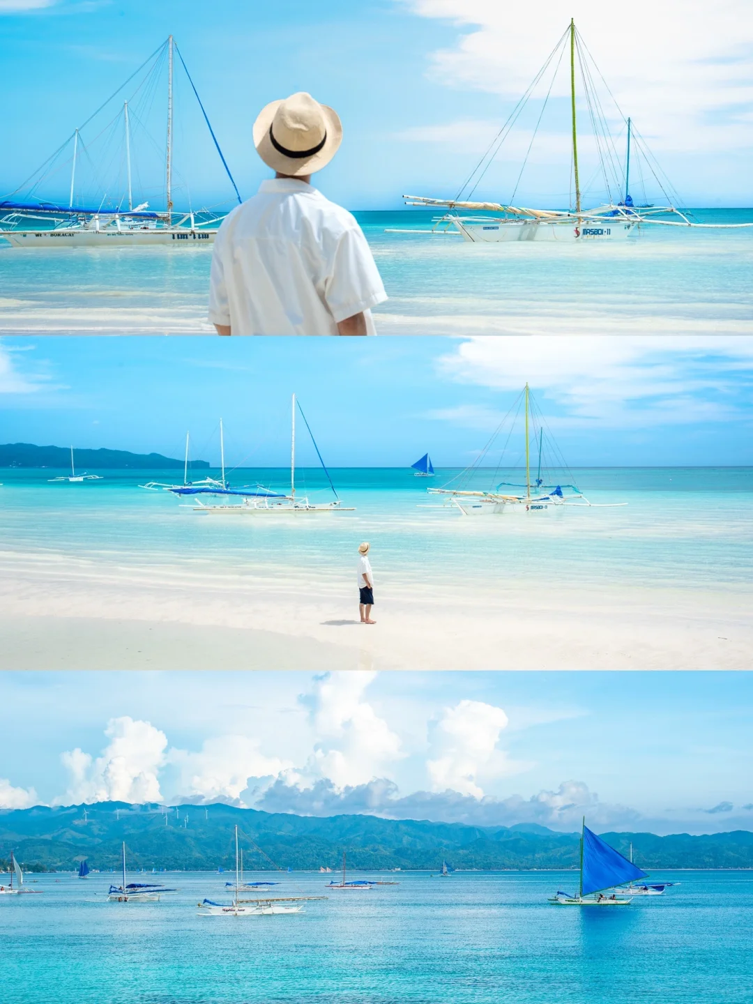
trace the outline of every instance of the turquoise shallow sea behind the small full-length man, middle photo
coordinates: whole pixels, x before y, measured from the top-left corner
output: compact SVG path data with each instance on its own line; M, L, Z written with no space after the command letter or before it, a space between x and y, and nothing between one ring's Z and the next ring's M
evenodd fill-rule
M749 590L753 543L753 468L589 468L573 470L593 503L543 513L463 517L427 495L458 472L431 481L411 471L334 470L343 506L316 516L207 516L188 500L150 492L148 480L180 472L102 471L102 481L48 484L54 470L0 471L0 548L52 562L152 567L182 576L270 574L297 569L335 580L353 564L360 540L372 547L380 584L633 583L673 588ZM201 477L206 472L201 472ZM219 477L219 472L213 472ZM519 481L520 471L482 470L470 487ZM238 470L235 485L257 481L285 491L289 473ZM296 472L299 494L332 498L321 470ZM565 483L562 477L562 483Z

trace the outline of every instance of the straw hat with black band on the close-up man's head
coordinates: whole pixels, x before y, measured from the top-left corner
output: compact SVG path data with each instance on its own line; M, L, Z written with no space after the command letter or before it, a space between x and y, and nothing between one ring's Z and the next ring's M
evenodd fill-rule
M281 175L311 175L337 153L342 126L337 112L299 91L270 101L254 122L256 153Z

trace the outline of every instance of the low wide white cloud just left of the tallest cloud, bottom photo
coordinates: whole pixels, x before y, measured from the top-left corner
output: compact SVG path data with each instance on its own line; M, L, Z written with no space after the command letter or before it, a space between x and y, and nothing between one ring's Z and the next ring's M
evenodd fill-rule
M290 761L261 753L258 740L239 735L207 739L196 753L171 749L167 761L179 772L176 799L236 804L241 804L249 778L271 782L292 767Z

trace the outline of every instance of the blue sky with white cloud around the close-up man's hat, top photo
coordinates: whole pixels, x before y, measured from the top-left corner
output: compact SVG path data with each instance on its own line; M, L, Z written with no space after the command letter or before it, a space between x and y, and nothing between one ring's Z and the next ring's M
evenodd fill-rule
M328 195L350 209L395 207L405 192L452 195L571 15L685 204L753 204L745 0L637 0L628 18L642 27L640 45L615 44L625 13L596 0L566 10L558 0L519 9L498 0L0 0L0 193L13 191L172 31L244 197L265 173L250 141L257 111L298 89L336 107L344 123L342 150L319 179ZM229 187L183 77L176 88L181 198L186 186L199 204L225 198ZM618 138L607 96L603 89ZM560 76L519 189L524 204L561 205L568 192L565 98ZM157 100L145 124L159 145ZM509 197L539 111L534 95L480 196ZM595 165L587 117L581 103L584 179ZM620 157L622 145L623 136ZM141 148L149 161L146 140ZM49 183L57 191L44 194L65 194L66 178L63 171Z

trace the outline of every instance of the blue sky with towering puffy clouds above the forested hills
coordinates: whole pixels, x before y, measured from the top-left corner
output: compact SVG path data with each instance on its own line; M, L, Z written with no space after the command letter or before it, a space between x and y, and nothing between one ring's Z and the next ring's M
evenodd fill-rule
M6 672L2 688L5 805L219 797L564 830L582 812L602 829L753 822L750 673Z

